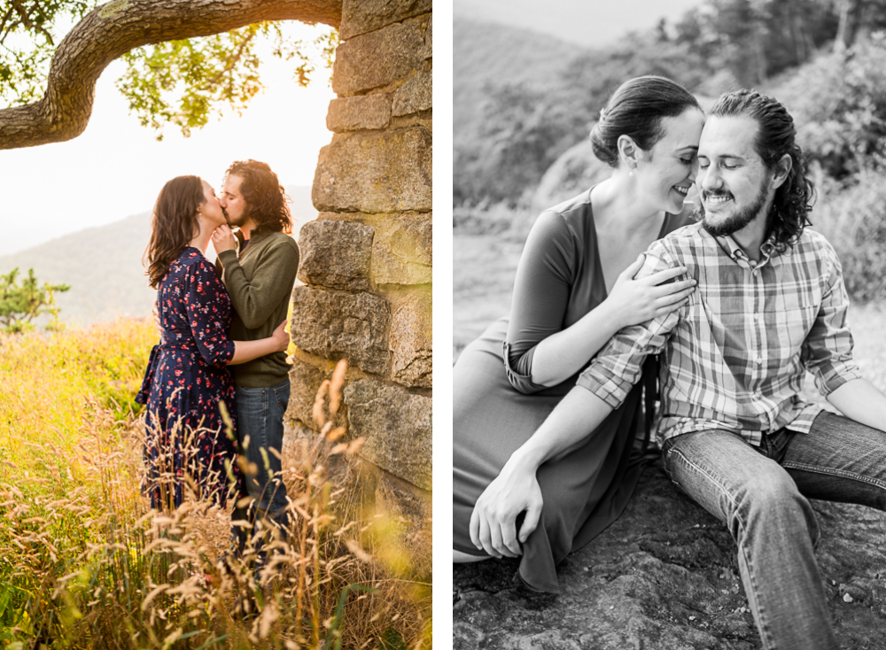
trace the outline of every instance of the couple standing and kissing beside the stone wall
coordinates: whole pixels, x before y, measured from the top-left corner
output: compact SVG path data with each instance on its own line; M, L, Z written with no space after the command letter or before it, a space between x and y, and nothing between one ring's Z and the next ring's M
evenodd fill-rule
M147 493L156 508L181 505L189 490L222 506L233 495L238 553L249 531L260 547L288 526L280 453L290 392L284 327L299 269L291 231L276 174L248 160L229 167L221 198L197 176L167 182L145 253L160 329L136 398L147 405ZM215 265L204 257L210 239Z

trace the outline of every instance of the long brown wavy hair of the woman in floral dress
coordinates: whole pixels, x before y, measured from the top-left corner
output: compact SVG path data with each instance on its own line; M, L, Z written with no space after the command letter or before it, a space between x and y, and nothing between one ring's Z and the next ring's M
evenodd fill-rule
M152 289L159 287L169 265L200 231L197 208L204 201L203 180L199 176L176 176L160 190L154 204L151 241L142 259Z

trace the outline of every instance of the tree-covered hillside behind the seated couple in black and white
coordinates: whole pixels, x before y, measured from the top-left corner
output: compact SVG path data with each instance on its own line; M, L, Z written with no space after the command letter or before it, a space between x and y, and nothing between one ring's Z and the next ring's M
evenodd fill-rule
M840 252L852 295L886 298L886 0L704 0L609 47L568 46L555 62L552 46L511 57L534 35L486 25L481 39L455 27L455 114L471 115L454 125L456 227L531 223L542 176L587 137L626 79L662 74L706 101L752 87L794 115L818 189L812 221ZM506 73L502 61L532 77L489 72Z

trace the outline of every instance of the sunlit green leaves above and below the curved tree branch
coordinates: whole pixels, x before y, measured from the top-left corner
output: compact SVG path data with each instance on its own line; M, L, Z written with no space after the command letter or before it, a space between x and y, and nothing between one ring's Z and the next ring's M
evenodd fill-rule
M59 36L100 4L97 0L10 3L0 14L0 102L24 105L42 97L51 58L62 40ZM263 59L291 61L295 81L304 86L315 63L331 66L337 44L334 29L305 43L293 38L285 23L256 22L222 34L131 50L121 57L126 71L117 87L130 112L143 126L154 129L158 139L167 124L187 136L191 128L203 127L226 108L237 114L243 111L263 88Z

